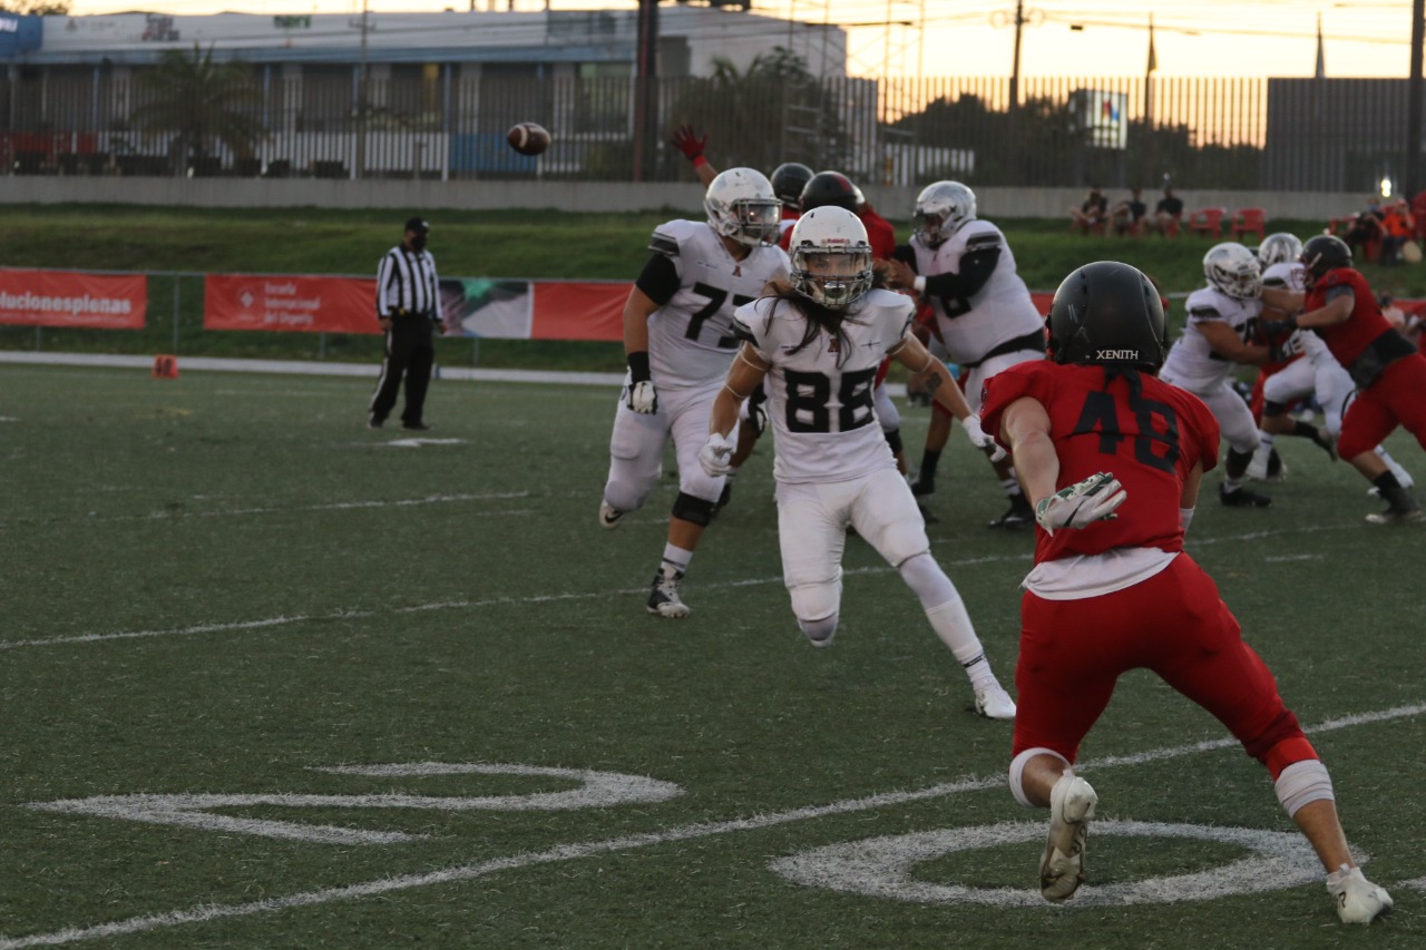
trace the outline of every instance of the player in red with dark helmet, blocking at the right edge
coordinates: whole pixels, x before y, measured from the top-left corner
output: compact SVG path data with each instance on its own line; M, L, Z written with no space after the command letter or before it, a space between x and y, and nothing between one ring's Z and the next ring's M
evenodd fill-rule
M1286 327L1315 330L1356 384L1356 399L1342 417L1338 455L1386 499L1378 525L1419 521L1420 505L1375 452L1397 425L1426 448L1426 357L1382 315L1366 278L1352 268L1352 248L1319 234L1302 247L1306 295L1273 291L1265 300L1295 314ZM1302 310L1303 312L1298 312Z

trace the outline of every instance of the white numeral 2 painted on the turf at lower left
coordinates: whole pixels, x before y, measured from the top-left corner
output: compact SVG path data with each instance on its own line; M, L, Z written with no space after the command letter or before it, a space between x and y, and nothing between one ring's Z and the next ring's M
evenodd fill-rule
M178 824L208 832L237 832L262 837L295 839L324 844L394 844L414 842L425 834L405 832L371 832L335 827L331 824L302 824L270 819L215 814L215 809L252 807L319 807L319 809L422 809L438 812L563 812L572 809L602 809L615 805L652 805L683 793L672 782L659 782L636 775L593 772L588 769L545 769L523 765L481 765L446 762L412 762L369 766L327 766L318 772L362 775L374 777L422 777L446 775L513 775L578 782L563 792L535 792L530 795L493 796L422 796L422 795L100 795L90 799L31 802L27 807L66 814Z

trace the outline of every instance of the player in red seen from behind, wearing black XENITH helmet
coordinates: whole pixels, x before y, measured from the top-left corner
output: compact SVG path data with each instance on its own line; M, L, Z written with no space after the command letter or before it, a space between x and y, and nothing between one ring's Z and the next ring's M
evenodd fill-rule
M1184 552L1204 472L1218 462L1218 422L1152 375L1165 351L1158 294L1127 264L1081 267L1055 292L1050 339L1052 362L1001 371L983 399L985 431L1012 452L1038 525L1010 787L1021 805L1051 810L1041 893L1064 900L1084 880L1098 796L1072 763L1118 678L1147 668L1268 767L1328 870L1339 917L1370 923L1392 899L1352 860L1326 766Z

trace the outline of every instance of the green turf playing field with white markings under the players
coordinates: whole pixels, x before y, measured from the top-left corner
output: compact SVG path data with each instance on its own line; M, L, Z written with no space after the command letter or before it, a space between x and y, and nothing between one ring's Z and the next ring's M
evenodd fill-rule
M362 428L364 379L0 377L0 949L1426 943L1422 531L1366 525L1310 445L1189 548L1396 897L1366 933L1266 773L1148 675L1084 749L1091 883L1042 904L1010 726L863 542L836 645L803 642L766 446L670 622L643 599L674 482L595 522L613 391L436 382L405 444ZM960 435L941 469L934 552L1008 683L1031 538L983 526Z

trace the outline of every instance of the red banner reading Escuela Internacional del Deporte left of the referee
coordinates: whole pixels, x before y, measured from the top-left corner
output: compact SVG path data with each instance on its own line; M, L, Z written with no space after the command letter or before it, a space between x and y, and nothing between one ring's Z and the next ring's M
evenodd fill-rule
M379 334L376 281L292 274L208 274L204 330Z

